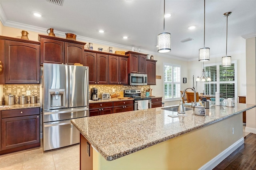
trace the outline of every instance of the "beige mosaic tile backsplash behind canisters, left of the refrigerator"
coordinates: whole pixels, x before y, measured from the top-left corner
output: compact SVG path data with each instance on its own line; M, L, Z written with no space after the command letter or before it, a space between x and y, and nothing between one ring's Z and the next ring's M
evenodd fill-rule
M26 95L26 91L30 90L31 95L37 96L37 100L40 100L40 85L38 84L22 84L22 85L4 85L4 95L15 95L15 104L19 103L19 96ZM28 97L28 103L30 103L30 97Z

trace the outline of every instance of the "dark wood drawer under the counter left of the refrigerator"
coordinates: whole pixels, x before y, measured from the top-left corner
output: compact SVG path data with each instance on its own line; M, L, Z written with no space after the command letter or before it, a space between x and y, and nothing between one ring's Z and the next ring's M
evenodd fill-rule
M40 114L39 107L30 108L30 109L6 110L6 111L2 111L2 118L39 115L39 114Z

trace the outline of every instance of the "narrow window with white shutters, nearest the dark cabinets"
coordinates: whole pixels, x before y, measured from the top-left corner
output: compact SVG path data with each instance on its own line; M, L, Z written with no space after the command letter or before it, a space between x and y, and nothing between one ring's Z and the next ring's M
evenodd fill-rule
M164 99L180 99L180 65L164 63Z

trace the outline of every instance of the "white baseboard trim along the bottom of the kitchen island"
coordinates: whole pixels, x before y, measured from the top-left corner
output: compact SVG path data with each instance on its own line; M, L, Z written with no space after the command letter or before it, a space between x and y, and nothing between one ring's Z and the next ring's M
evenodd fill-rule
M215 158L204 164L199 170L212 170L215 168L222 160L228 157L232 152L234 152L239 146L244 143L244 137L236 141L234 144L226 148L223 152L218 154Z

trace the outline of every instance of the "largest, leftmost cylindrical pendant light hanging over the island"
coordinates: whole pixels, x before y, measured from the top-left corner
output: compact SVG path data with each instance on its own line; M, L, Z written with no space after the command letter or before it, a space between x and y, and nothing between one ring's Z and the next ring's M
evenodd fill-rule
M164 14L165 14L165 0L164 0ZM171 51L171 34L162 32L157 36L157 45L159 53L167 53Z

